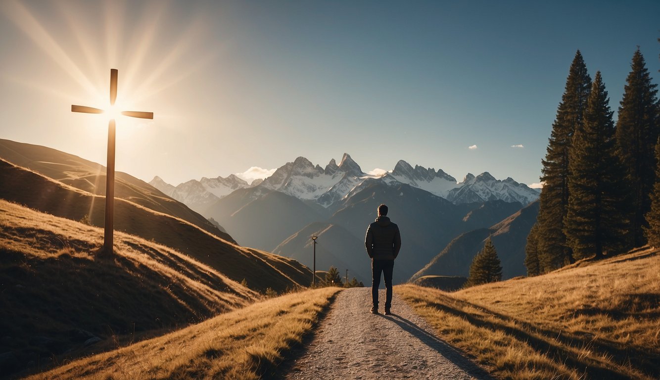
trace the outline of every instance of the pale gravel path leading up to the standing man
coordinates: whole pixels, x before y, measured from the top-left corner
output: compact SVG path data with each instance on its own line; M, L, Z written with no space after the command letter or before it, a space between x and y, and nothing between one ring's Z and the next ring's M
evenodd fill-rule
M385 290L379 298L384 304ZM371 314L370 307L371 288L341 292L284 379L490 379L436 338L396 293L393 315Z

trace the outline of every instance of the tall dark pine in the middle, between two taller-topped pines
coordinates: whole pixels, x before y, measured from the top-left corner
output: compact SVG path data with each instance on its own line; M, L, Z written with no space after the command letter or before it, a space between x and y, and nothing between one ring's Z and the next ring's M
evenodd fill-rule
M609 98L601 73L596 73L583 125L570 149L566 237L576 257L603 252L620 253L628 247L626 199L629 191L624 168L616 155L616 137Z

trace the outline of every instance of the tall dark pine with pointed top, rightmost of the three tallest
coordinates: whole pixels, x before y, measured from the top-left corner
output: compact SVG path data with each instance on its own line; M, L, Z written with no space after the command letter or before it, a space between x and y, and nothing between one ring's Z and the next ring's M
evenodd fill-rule
M616 141L618 155L626 167L628 181L634 185L630 232L635 247L646 243L645 214L651 208L655 183L655 141L660 133L657 117L657 84L651 83L644 57L638 48L632 57L632 71L626 79L623 100L618 108Z

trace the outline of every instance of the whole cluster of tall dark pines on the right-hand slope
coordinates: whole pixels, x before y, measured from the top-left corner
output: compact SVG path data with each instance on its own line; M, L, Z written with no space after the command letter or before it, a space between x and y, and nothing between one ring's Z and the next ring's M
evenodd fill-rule
M656 87L638 48L614 123L603 77L591 80L578 50L542 160L539 215L525 247L530 276L660 246Z

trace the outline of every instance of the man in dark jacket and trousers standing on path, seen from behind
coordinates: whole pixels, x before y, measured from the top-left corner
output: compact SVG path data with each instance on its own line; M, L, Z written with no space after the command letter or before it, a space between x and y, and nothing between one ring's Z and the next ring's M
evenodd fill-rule
M367 228L364 238L367 253L372 259L372 313L378 313L378 287L380 286L380 273L385 276L385 315L391 314L392 306L392 272L394 259L401 250L401 234L399 226L387 218L387 206L378 206L378 218Z

